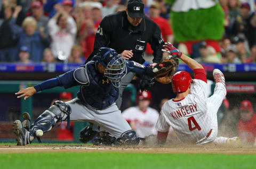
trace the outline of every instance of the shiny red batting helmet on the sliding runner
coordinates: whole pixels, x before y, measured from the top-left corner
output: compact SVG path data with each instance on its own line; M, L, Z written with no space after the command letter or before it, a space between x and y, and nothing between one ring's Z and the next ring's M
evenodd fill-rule
M172 89L174 93L185 92L189 84L193 82L187 71L178 71L172 76Z

